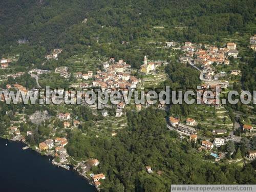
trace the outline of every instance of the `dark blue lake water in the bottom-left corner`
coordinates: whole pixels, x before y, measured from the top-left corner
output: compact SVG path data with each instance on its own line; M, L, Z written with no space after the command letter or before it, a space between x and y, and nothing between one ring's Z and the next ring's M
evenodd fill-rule
M91 192L94 186L72 170L52 165L49 158L20 142L0 138L0 191L5 192Z

